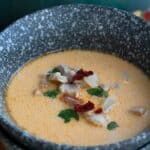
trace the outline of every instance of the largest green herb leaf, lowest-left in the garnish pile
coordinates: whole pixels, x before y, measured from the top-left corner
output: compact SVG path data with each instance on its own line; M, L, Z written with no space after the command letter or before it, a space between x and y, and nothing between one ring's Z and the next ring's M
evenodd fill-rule
M70 122L71 118L79 120L79 114L76 111L74 111L73 109L70 109L70 108L62 110L58 114L58 116L61 117L62 119L64 119L65 123Z

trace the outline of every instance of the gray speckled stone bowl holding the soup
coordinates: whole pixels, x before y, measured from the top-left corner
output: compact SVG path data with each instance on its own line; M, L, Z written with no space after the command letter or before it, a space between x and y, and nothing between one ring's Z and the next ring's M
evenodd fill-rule
M0 125L30 149L116 150L137 149L150 142L150 130L122 142L74 147L36 138L9 117L3 97L11 75L28 60L49 51L97 49L138 65L150 75L150 26L118 9L66 5L45 9L16 21L0 34Z

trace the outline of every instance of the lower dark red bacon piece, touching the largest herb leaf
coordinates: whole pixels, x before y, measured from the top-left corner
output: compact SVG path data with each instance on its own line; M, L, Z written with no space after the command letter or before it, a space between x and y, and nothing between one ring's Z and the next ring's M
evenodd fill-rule
M74 109L76 112L81 112L81 113L87 112L89 110L94 109L94 104L88 101L86 104L83 104L83 105L79 105L79 104L75 105Z

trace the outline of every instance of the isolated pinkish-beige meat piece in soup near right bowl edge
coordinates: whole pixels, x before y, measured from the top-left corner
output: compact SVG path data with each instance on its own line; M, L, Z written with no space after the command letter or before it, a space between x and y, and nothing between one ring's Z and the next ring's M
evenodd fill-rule
M143 107L133 107L130 109L130 112L137 116L143 116L147 110Z

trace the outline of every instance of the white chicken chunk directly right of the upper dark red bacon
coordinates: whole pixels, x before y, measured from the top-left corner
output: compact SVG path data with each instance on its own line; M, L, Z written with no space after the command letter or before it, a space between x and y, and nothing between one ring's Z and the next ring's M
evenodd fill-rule
M83 80L85 81L86 84L88 84L92 88L97 87L99 84L99 79L96 74L92 74L87 77L84 77Z

